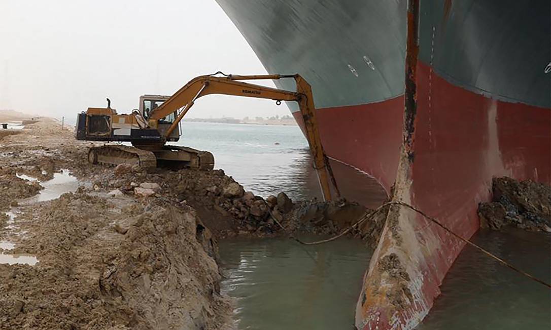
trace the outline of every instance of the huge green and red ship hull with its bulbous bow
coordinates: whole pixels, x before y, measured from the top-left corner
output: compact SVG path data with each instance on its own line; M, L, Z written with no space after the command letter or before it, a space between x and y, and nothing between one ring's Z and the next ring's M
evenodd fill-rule
M328 155L392 199L469 238L493 177L551 182L549 1L420 1L417 111L406 116L406 1L217 1L269 73L312 85ZM391 208L356 327L417 326L462 248Z

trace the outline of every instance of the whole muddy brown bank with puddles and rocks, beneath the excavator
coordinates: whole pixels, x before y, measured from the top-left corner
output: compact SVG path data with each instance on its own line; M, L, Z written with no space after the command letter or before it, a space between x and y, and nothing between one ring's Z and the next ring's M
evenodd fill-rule
M46 118L0 144L0 241L10 244L0 252L38 261L0 261L1 329L231 328L217 239L337 234L369 211L284 193L263 199L222 170L91 166L91 145ZM28 199L62 169L80 180L76 191ZM379 222L352 234L374 237Z

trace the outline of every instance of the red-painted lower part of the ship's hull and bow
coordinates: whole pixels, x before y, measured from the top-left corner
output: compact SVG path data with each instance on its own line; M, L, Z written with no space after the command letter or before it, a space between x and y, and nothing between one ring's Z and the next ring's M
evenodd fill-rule
M404 170L411 178L403 192L406 201L470 238L479 227L478 203L489 200L493 177L551 183L550 109L475 94L448 83L422 63L418 86L415 158ZM318 121L329 156L373 175L390 190L399 175L403 97L319 109ZM463 248L444 230L403 209L395 227L383 231L364 278L356 310L359 328L417 326ZM377 266L389 254L398 256L410 279L400 284L401 309L387 294L396 293L397 282Z

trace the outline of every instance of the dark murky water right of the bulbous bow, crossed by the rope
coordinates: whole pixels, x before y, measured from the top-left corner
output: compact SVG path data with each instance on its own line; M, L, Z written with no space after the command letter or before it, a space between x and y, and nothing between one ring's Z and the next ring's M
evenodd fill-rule
M551 237L518 229L481 231L472 241L551 281ZM551 329L551 290L467 246L447 274L419 330Z

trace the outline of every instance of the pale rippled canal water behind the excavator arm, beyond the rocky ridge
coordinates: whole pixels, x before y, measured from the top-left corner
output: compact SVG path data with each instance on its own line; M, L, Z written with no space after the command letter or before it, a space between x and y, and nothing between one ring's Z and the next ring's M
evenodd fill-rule
M177 143L212 152L214 167L223 168L255 195L285 191L295 200L321 199L308 142L298 126L184 122ZM385 200L386 193L375 179L331 163L344 197L371 207Z

